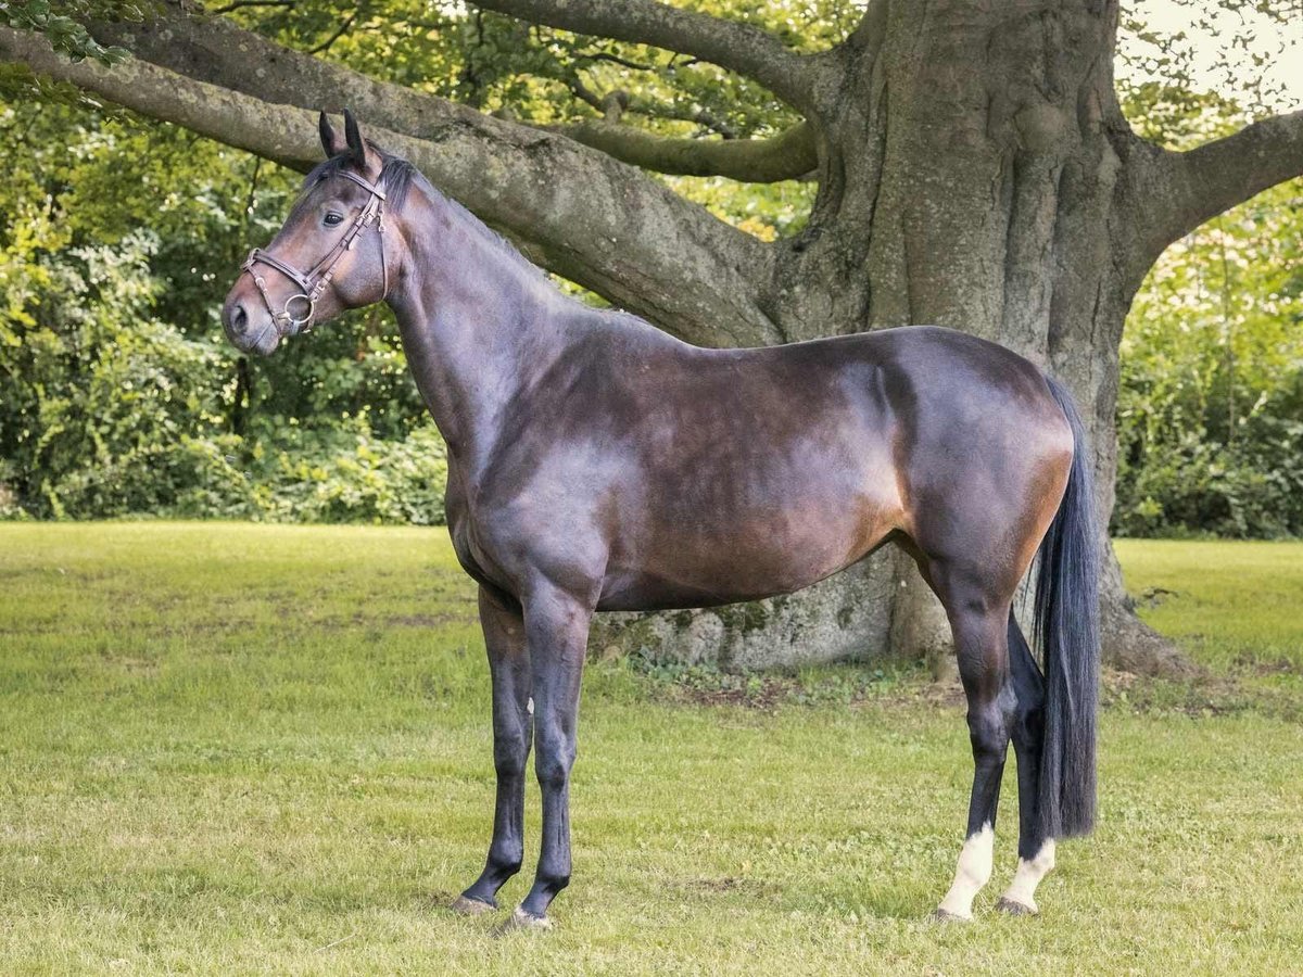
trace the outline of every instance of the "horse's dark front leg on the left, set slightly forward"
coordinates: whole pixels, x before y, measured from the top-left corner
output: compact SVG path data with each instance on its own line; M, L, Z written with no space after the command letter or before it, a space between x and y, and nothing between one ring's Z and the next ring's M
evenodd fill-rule
M525 839L525 763L529 761L529 650L520 608L480 588L480 624L493 676L493 759L498 774L493 840L485 870L452 904L465 916L498 908L498 890L520 871Z

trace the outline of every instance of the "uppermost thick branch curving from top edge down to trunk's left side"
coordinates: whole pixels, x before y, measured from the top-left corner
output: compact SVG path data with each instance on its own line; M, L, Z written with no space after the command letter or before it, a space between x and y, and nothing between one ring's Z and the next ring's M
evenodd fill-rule
M477 7L533 23L676 51L754 78L809 113L816 60L769 31L655 0L477 0Z

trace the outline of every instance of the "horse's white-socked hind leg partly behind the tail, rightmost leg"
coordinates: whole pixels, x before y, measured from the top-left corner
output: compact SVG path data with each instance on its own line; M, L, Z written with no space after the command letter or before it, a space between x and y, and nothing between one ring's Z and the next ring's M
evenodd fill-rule
M1018 756L1018 869L995 908L1035 916L1036 887L1054 868L1054 839L1040 827L1041 749L1045 743L1045 679L1018 621L1009 616L1010 675L1014 685L1014 753Z

